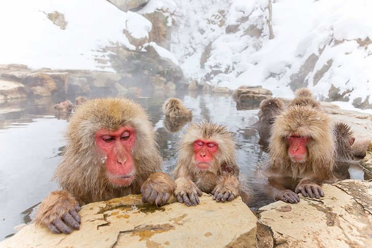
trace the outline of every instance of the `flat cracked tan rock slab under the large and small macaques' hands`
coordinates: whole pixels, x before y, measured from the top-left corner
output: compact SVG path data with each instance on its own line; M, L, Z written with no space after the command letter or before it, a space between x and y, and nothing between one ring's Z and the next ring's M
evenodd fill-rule
M141 204L130 195L82 207L81 230L52 234L31 224L1 247L255 247L256 217L237 198L217 203L204 194L200 204Z

